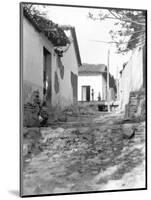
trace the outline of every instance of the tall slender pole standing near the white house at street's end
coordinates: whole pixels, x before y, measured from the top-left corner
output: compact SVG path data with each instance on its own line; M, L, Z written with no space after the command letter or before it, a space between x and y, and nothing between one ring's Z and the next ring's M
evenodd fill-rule
M109 67L110 67L110 50L108 49L108 53L107 53L107 110L108 112L110 112L110 99L109 99L109 95L110 95L110 77L109 77Z

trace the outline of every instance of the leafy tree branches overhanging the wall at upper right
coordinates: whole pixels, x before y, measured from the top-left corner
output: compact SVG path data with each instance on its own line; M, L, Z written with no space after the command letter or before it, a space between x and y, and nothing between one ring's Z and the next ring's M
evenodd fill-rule
M115 20L115 30L110 30L111 41L117 47L118 53L133 50L145 45L146 11L123 9L102 9L97 15L88 13L93 20ZM105 41L100 41L105 42Z

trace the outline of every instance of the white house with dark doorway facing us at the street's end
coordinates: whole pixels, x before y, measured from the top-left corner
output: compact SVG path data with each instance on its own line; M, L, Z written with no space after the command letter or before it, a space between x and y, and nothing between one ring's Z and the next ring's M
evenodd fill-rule
M83 64L79 68L78 101L102 101L107 98L106 66Z

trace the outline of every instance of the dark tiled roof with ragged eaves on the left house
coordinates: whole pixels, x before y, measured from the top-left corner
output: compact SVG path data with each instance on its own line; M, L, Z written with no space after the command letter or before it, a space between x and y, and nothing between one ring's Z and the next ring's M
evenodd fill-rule
M71 26L59 26L49 19L43 16L35 15L30 12L29 9L23 7L24 16L30 21L30 23L39 31L43 32L45 36L52 42L54 46L66 46L70 43L70 39L66 36L65 30L70 30L74 47L76 51L78 65L81 66L81 57L78 46L78 41L76 37L76 31L74 27ZM66 28L65 28L66 27Z

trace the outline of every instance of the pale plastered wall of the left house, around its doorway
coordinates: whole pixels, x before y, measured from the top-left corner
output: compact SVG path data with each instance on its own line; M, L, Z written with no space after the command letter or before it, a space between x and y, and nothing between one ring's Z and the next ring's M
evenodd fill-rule
M78 75L78 62L75 54L73 42L68 51L61 58L64 65L64 77L60 76L57 64L57 55L54 52L52 43L33 25L23 17L23 87L24 101L28 101L31 93L38 89L40 96L43 96L43 48L51 53L51 79L52 79L52 99L53 106L61 108L73 103L73 90L71 85L71 71ZM59 92L55 92L55 72L58 75ZM26 92L25 92L26 91Z

